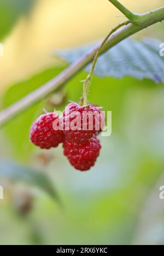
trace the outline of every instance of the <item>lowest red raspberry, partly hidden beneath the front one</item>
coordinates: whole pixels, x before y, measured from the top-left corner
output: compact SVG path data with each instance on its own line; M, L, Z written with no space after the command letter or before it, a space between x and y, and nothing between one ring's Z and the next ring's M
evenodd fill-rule
M90 141L76 144L66 138L63 143L64 154L75 169L86 171L96 162L101 149L99 140L93 135Z

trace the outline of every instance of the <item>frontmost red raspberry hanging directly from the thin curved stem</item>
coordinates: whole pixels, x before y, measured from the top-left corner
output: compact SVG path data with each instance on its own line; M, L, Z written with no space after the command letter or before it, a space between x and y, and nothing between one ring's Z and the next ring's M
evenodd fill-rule
M75 143L90 140L93 134L101 131L104 117L97 107L80 107L69 103L63 112L63 127L66 137Z

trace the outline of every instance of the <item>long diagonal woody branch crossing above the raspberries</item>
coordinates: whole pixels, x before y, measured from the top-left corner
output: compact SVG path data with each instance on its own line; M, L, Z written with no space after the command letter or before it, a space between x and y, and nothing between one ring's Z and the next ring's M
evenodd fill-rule
M151 26L159 21L164 20L164 7L154 10L153 12L149 12L143 15L140 15L140 23L139 25L127 24L122 27L122 29L114 32L109 37L109 40L104 45L101 50L101 54L106 52L108 49L112 48L125 38L136 34L138 31L143 30L145 27ZM91 63L98 48L101 46L99 44L97 47L93 48L90 52L83 55L76 62L72 63L65 70L63 70L59 75L54 77L54 79L50 80L43 86L40 86L37 90L34 90L26 97L20 99L20 101L15 102L13 105L10 105L8 108L2 110L0 112L0 126L7 123L7 121L17 114L21 113L22 110L27 109L32 104L36 103L40 99L45 98L51 92L58 90L63 84L71 79L74 75L76 75L81 69L83 69L87 64Z

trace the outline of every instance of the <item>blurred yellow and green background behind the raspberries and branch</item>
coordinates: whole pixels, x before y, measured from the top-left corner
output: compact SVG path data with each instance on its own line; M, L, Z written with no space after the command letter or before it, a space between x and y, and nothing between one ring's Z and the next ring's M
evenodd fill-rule
M122 0L136 13L163 0ZM125 18L107 0L1 1L1 109L58 74L63 60L54 51L104 37ZM163 24L135 35L163 42ZM135 54L135 52L134 52ZM112 136L88 172L74 170L62 146L41 151L29 140L31 122L68 99L81 96L82 71L65 89L39 102L1 129L0 157L50 177L63 208L47 193L0 177L0 244L163 244L164 88L150 80L94 77L89 99L112 110ZM31 77L33 77L31 79ZM14 86L13 86L14 85ZM5 172L5 170L4 170Z

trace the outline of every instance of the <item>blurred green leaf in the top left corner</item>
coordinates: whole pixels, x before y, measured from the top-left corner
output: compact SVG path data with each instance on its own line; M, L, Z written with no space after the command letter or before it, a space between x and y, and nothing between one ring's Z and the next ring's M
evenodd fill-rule
M21 14L28 12L34 0L1 0L0 1L0 39L6 36L15 25Z

